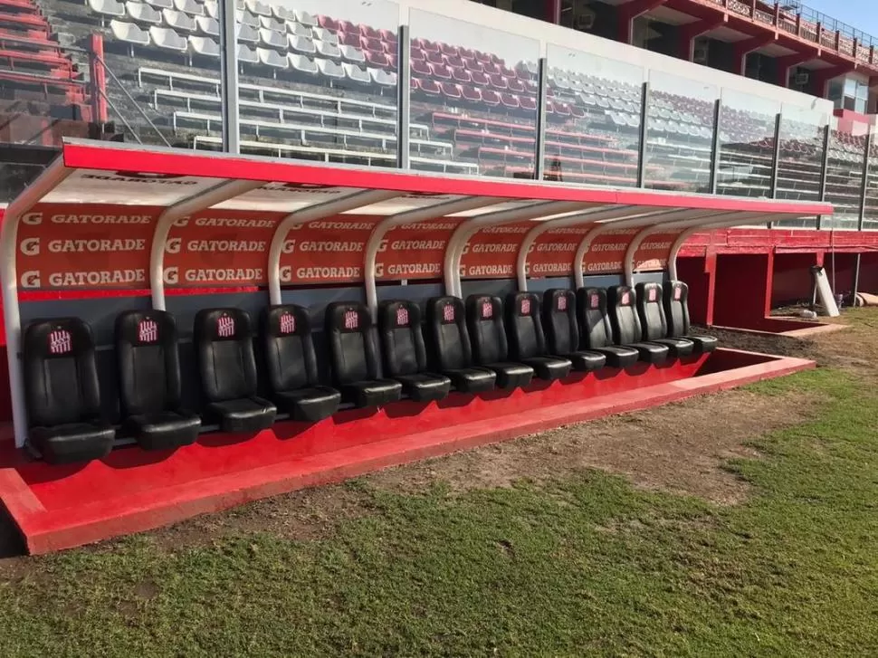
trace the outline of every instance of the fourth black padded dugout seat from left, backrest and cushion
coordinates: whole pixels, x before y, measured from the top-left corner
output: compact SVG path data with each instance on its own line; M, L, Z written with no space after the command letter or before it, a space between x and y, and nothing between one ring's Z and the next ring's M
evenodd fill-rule
M292 420L317 423L339 410L341 394L320 385L308 310L295 304L262 313L262 340L272 402Z

